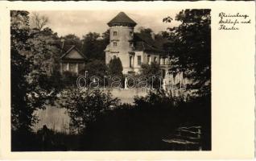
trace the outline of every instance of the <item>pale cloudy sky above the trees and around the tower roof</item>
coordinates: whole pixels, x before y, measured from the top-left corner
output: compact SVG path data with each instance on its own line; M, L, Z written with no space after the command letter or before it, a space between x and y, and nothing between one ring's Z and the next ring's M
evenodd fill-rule
M137 23L135 31L138 31L138 27L150 27L155 33L158 33L166 31L167 27L180 24L177 21L163 23L163 18L167 16L175 19L175 15L180 10L37 10L36 12L48 17L47 27L52 28L52 31L57 32L59 36L75 34L82 38L82 35L86 35L90 31L105 32L109 28L106 23L121 11L124 11L130 19Z

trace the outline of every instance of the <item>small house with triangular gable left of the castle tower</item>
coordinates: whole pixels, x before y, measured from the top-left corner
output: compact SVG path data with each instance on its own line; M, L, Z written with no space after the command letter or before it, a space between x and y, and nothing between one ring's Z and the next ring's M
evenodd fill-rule
M66 49L66 50L65 50ZM85 69L86 56L75 46L63 48L64 54L60 56L60 73L72 72L78 74Z

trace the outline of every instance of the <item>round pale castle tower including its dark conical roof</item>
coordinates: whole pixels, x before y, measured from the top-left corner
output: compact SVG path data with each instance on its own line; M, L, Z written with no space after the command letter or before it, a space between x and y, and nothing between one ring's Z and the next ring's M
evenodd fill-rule
M110 59L118 57L122 62L123 73L133 71L133 39L136 23L124 12L120 12L107 24L110 27L110 39L108 51L106 51L106 64Z

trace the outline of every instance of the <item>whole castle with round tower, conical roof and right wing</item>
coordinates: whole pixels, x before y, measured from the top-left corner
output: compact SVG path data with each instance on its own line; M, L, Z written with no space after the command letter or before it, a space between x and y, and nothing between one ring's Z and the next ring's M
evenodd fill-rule
M124 12L120 12L109 23L110 39L105 48L105 64L118 57L122 62L123 74L139 73L142 64L156 62L163 72L170 67L170 57L163 50L167 40L154 33L134 33L137 23Z

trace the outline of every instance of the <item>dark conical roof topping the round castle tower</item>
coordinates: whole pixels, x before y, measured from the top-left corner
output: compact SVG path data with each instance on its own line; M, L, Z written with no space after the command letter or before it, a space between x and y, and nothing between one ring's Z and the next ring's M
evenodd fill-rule
M130 19L124 12L120 12L114 19L109 21L108 25L109 27L112 26L114 23L125 23L130 24L131 26L135 26L137 23L134 22L134 20Z

